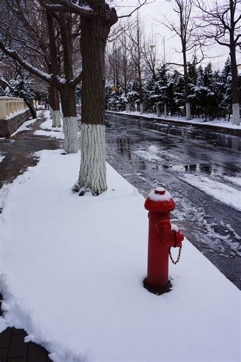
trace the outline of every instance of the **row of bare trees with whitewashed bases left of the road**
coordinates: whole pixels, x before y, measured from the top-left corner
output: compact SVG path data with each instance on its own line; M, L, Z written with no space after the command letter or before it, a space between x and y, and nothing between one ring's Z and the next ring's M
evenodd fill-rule
M81 164L75 189L81 194L105 191L104 51L118 20L115 9L105 0L88 0L88 5L81 0L3 0L0 9L2 64L16 63L47 86L55 126L60 94L67 153L78 151L75 89L82 80Z

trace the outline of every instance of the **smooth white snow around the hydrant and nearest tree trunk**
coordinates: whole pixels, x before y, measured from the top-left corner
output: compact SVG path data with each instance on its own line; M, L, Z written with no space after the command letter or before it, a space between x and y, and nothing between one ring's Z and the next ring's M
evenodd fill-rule
M144 198L108 164L108 190L79 197L80 154L62 152L8 185L2 329L24 328L54 362L239 361L239 290L185 239L171 292L146 291Z

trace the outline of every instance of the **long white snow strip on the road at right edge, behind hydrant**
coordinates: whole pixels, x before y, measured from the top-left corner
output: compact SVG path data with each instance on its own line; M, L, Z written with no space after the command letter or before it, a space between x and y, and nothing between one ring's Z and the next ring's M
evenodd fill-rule
M235 188L200 175L183 174L182 177L176 177L224 204L241 211L241 192Z

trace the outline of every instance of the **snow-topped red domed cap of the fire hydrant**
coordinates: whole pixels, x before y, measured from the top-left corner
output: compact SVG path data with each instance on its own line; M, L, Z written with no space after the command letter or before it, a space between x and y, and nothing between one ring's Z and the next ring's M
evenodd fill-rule
M153 212L170 212L174 210L175 203L171 194L163 187L156 187L148 194L144 207Z

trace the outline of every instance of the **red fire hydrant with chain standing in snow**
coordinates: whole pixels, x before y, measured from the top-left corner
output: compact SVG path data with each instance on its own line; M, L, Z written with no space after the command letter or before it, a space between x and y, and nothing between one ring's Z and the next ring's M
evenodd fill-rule
M149 211L147 278L144 287L155 294L162 294L168 282L168 257L176 264L180 259L180 250L184 236L176 225L170 222L170 211L175 203L163 187L157 187L149 193L144 207ZM177 260L171 257L171 247L179 247ZM158 292L160 291L160 293Z

